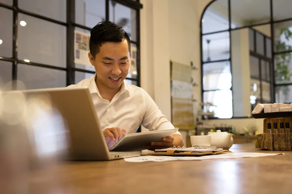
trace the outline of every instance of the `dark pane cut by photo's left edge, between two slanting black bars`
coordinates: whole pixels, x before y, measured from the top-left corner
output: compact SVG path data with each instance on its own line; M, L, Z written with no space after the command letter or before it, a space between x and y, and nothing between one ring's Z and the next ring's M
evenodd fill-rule
M0 56L12 57L13 12L0 7Z

